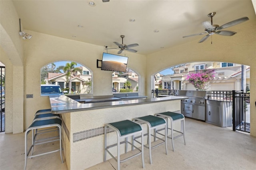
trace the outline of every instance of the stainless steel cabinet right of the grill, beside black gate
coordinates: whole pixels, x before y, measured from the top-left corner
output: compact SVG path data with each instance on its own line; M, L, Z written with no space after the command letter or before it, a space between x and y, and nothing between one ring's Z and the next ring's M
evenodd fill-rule
M232 102L207 100L205 122L220 127L232 126Z

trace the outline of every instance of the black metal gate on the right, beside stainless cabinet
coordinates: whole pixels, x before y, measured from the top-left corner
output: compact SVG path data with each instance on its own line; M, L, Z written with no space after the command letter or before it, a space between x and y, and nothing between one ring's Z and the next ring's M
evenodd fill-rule
M247 114L250 114L250 93L232 91L233 98L233 131L241 130L250 133L250 120Z

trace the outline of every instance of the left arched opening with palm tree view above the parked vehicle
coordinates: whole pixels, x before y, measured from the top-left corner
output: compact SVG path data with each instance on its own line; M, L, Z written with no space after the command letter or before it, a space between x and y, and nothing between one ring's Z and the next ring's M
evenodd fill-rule
M58 61L41 68L41 84L59 85L64 94L92 94L92 71L75 61Z

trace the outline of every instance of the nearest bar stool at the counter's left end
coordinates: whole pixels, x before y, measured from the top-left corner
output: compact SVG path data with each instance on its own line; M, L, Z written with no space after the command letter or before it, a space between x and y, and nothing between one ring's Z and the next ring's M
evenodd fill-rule
M27 159L28 158L34 158L36 156L50 154L50 153L58 152L58 151L60 151L60 158L61 158L61 161L63 163L62 144L61 144L61 124L62 124L62 121L59 118L49 118L49 119L44 119L44 120L35 119L32 122L32 124L29 126L29 128L25 131L25 166L24 166L24 170L26 170L26 165L27 165ZM33 130L35 130L35 129L55 127L55 126L58 127L58 130L59 130L59 136L58 136L57 139L52 139L52 137L50 137L50 138L43 139L44 142L42 142L42 140L40 140L40 142L36 141L38 143L35 143L34 136L32 136L32 144L31 144L29 150L27 149L27 136L28 136L28 133L30 131L33 132ZM47 140L47 141L45 141L45 140ZM32 153L29 156L31 149L34 148L35 145L45 144L45 143L48 143L48 142L53 142L53 141L58 141L58 140L60 141L60 148L59 149L52 150L50 152L44 152L44 153L41 153L41 154L36 154L36 155L33 155L33 153Z

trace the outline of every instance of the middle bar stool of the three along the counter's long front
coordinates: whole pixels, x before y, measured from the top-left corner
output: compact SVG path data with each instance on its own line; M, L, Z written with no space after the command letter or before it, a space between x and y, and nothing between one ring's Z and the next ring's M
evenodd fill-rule
M150 164L152 164L152 156L151 156L151 149L154 149L162 144L165 144L165 151L166 151L166 155L167 155L167 125L166 125L166 121L163 118L157 117L157 116L152 116L152 115L148 115L148 116L143 116L140 118L134 118L134 121L140 121L142 123L146 123L148 125L148 133L144 134L144 136L148 136L148 146L144 145L145 148L149 149L149 158L150 158ZM159 127L164 126L164 128L158 129ZM154 134L151 134L151 130L154 129ZM161 130L165 130L165 134L161 134L159 133L159 131ZM162 136L165 136L165 140L163 140L162 138L159 138L156 136L156 134L160 134ZM159 140L162 140L162 142L160 142L159 144L156 144L154 146L151 146L151 136L154 137L154 142L156 141L156 138ZM134 136L133 136L134 138ZM140 136L137 136L133 139L133 141L138 142L136 139L140 138ZM133 150L133 148L132 148Z

